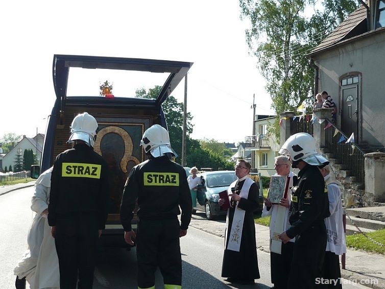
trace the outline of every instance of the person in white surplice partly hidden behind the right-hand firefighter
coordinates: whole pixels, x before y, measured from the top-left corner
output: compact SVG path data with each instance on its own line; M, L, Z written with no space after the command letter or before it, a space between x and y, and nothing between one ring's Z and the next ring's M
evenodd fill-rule
M327 195L329 197L330 216L325 218L325 226L327 233L327 244L325 253L324 278L332 281L333 288L342 288L340 257L346 253L346 239L344 225L342 222L343 208L341 198L341 183L330 173L328 165L320 168L321 174L325 179L327 186ZM330 287L331 285L329 285Z

